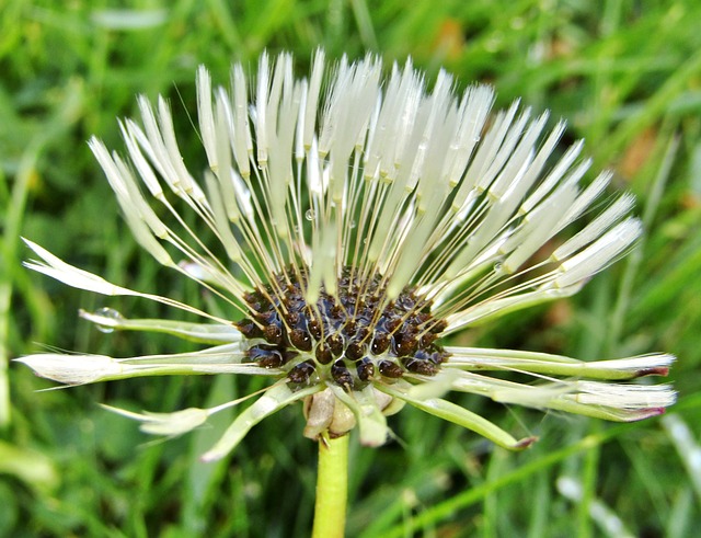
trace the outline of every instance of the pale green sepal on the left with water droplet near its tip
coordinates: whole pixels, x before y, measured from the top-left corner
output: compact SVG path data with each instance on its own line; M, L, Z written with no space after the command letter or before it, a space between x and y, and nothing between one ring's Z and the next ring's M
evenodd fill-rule
M233 325L160 319L128 319L112 309L100 309L95 312L79 310L78 314L107 330L162 332L203 344L220 344L242 340L241 331Z

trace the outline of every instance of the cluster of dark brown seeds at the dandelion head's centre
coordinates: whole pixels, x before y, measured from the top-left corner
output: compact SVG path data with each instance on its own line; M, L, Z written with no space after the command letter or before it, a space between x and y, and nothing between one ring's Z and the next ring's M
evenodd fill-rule
M349 390L377 376L430 376L448 357L435 343L445 321L412 289L387 302L379 278L361 279L348 268L336 289L335 297L322 289L313 308L302 286L283 275L274 286L248 294L252 317L237 327L262 341L248 351L249 360L286 369L295 385L333 379Z

